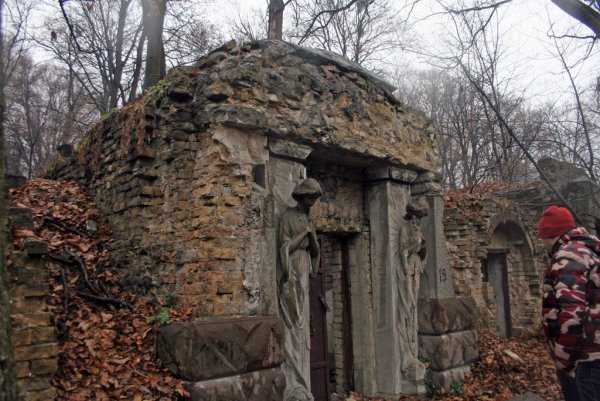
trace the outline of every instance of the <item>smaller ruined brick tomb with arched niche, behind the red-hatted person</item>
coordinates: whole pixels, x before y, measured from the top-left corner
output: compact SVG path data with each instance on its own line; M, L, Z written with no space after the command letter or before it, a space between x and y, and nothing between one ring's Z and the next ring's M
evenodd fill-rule
M570 163L545 158L538 164L580 224L597 234L600 186ZM537 225L546 207L561 204L556 194L540 180L446 197L444 230L456 295L474 299L479 321L502 336L539 328L548 260Z

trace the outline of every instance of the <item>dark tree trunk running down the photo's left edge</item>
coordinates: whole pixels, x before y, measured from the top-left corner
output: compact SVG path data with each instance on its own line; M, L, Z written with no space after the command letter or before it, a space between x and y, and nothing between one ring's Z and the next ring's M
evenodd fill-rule
M0 0L0 11L4 0ZM0 54L4 54L0 12ZM0 62L1 63L1 62ZM0 401L17 399L11 341L8 272L6 271L6 187L4 180L4 68L0 68Z

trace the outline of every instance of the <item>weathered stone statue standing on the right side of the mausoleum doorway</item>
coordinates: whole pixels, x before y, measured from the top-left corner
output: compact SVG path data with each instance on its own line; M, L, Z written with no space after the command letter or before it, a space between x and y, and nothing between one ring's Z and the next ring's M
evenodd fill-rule
M400 327L401 370L408 380L420 380L425 367L418 359L417 297L420 275L425 269L425 241L419 225L427 215L427 205L413 202L406 207L400 229L400 263L398 274L398 324Z

